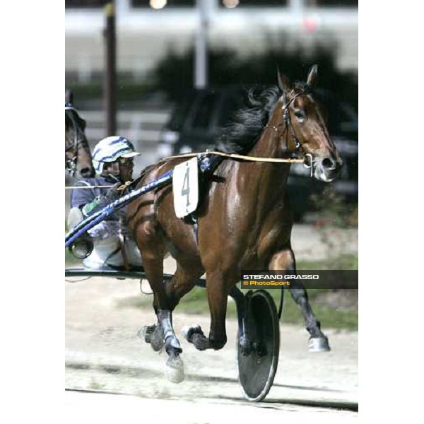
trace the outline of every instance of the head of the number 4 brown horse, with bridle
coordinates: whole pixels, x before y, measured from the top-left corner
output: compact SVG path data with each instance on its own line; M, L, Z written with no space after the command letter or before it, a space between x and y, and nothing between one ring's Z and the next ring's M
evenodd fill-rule
M338 177L343 162L331 141L326 128L324 113L314 98L318 66L310 69L306 83L292 84L287 76L278 71L278 87L282 91L277 104L279 120L285 123L283 150L303 154L312 167L311 175L325 182Z

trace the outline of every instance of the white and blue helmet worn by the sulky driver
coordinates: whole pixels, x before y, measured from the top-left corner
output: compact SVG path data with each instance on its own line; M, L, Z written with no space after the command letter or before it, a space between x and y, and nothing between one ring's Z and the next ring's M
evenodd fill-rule
M120 136L106 137L100 140L93 151L93 166L101 174L103 172L103 164L114 162L118 158L133 158L140 153L134 151L131 141Z

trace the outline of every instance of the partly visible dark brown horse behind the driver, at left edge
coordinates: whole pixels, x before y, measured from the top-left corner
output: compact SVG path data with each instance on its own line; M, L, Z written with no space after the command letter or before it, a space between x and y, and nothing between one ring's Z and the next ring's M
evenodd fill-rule
M65 91L65 169L74 176L94 177L90 146L86 137L86 121L73 107L73 94Z

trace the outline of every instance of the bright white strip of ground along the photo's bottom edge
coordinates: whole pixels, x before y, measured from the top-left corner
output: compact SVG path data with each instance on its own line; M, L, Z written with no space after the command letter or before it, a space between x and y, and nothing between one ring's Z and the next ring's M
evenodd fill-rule
M65 423L154 424L357 423L358 413L290 404L246 404L230 400L148 399L66 391Z

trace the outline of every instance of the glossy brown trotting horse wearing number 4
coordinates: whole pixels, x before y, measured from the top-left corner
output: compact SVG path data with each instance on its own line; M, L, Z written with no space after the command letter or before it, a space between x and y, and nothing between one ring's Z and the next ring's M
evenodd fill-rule
M261 158L305 157L315 178L329 182L338 177L342 162L314 98L316 79L317 66L313 66L306 84L292 85L287 77L279 76L278 88L264 90L257 98L251 93L250 106L223 131L218 150ZM173 159L149 167L139 186L181 162ZM227 298L240 281L242 269L295 272L290 243L293 219L286 191L289 170L289 163L223 160L204 188L196 210L197 228L175 216L171 187L157 189L130 204L129 227L143 257L158 317L151 344L158 350L165 343L171 369L182 369L182 349L172 329L172 311L203 273L211 329L208 337L199 326L184 333L199 350L225 345ZM163 259L167 252L177 261L177 271L165 284ZM290 293L305 317L310 350L329 350L305 288L292 284ZM181 381L182 377L175 379Z

